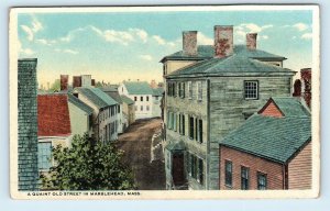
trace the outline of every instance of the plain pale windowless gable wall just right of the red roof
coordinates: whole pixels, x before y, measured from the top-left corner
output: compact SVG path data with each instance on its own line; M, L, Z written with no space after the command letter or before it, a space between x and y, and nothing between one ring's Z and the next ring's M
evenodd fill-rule
M72 93L68 93L67 97L72 134L82 136L85 133L87 133L88 136L91 136L92 108L88 107Z

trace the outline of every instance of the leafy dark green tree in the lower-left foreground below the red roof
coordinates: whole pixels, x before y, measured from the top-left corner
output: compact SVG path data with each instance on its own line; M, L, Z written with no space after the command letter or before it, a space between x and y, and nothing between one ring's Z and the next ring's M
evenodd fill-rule
M102 144L75 135L72 147L53 147L56 164L41 175L42 189L132 190L132 171L122 163L123 152L113 143Z

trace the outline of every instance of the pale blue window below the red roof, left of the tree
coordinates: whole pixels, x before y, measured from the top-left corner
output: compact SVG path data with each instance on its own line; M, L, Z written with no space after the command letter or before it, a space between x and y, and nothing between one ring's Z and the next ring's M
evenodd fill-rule
M40 170L48 170L52 167L52 143L37 143L37 166Z

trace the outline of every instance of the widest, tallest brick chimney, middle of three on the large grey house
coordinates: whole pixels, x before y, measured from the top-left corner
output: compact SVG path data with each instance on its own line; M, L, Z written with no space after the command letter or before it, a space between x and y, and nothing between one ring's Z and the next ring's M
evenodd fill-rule
M233 26L215 26L215 57L223 58L233 54Z

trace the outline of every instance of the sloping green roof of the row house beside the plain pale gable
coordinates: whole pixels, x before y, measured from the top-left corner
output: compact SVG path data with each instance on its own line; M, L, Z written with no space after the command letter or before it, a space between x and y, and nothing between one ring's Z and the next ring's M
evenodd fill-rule
M88 98L98 109L118 104L118 102L114 99L112 99L110 96L108 96L98 88L78 87L75 90Z

